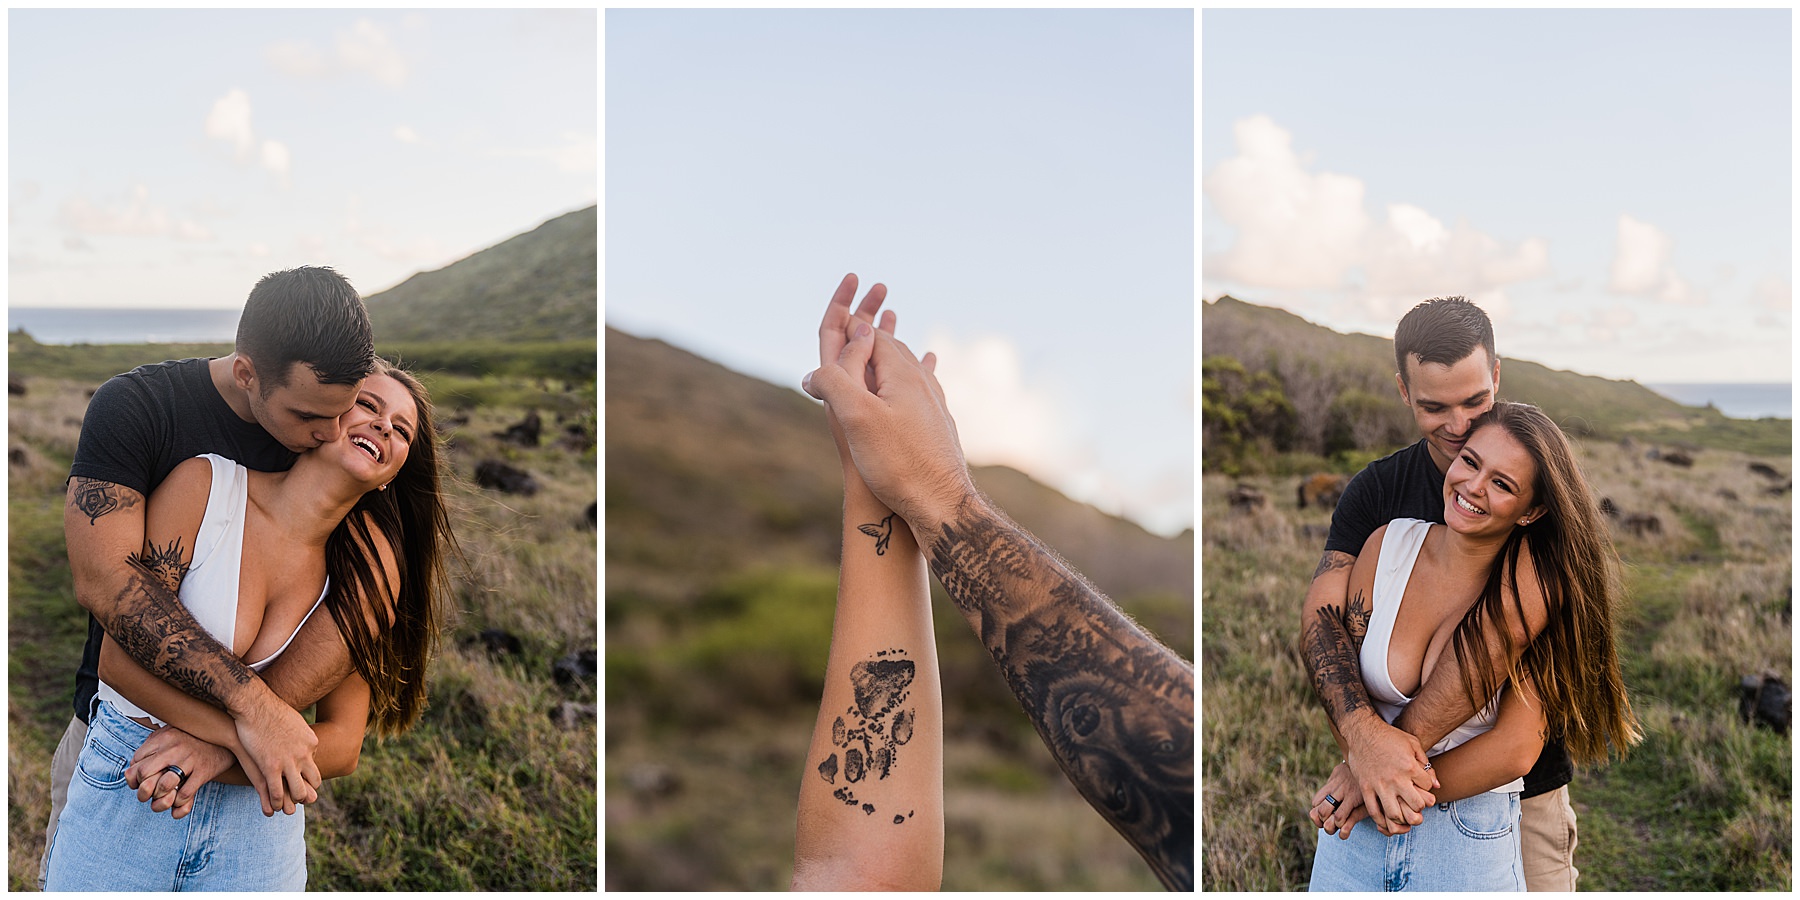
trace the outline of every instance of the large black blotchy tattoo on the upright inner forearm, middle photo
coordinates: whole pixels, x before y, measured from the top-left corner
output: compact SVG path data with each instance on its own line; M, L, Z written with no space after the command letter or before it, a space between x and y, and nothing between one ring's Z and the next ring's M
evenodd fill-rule
M869 527L869 526L864 526ZM886 779L900 763L898 752L913 740L916 711L902 707L911 697L916 668L904 650L880 650L850 670L853 702L832 722L832 745L842 751L819 761L819 778L835 785L844 776L844 787L832 792L846 806L860 806L864 815L875 815L875 805L857 799L850 785L866 778ZM895 824L909 819L895 815Z

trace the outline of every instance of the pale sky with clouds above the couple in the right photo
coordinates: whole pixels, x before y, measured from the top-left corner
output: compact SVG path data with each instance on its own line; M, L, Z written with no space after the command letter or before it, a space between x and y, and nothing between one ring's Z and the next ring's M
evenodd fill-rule
M1789 11L1210 9L1201 41L1204 299L1391 335L1463 293L1507 356L1791 380Z

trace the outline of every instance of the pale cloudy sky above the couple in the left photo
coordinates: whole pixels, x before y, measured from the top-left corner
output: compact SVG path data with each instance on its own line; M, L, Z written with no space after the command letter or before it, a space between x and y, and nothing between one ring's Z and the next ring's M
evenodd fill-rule
M9 304L364 293L598 202L598 14L7 14Z

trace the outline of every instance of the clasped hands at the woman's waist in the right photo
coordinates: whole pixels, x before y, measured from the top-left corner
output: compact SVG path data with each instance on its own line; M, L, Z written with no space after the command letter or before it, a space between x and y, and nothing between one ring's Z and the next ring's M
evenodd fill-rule
M1312 824L1348 841L1363 819L1373 819L1375 830L1390 837L1422 823L1440 785L1418 738L1375 716L1345 731L1345 761L1312 794Z

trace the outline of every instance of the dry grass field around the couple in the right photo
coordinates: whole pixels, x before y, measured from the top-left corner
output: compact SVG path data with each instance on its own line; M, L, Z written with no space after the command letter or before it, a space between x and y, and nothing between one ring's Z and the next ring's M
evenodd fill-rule
M1654 535L1615 526L1625 563L1620 655L1647 733L1625 760L1577 770L1580 889L1791 887L1791 738L1746 725L1739 679L1791 682L1787 457L1703 450L1692 468L1643 443L1589 441L1595 491ZM1298 509L1296 477L1244 479L1271 506L1233 511L1233 479L1202 479L1202 889L1303 889L1305 805L1337 758L1300 655L1300 605L1330 513Z

